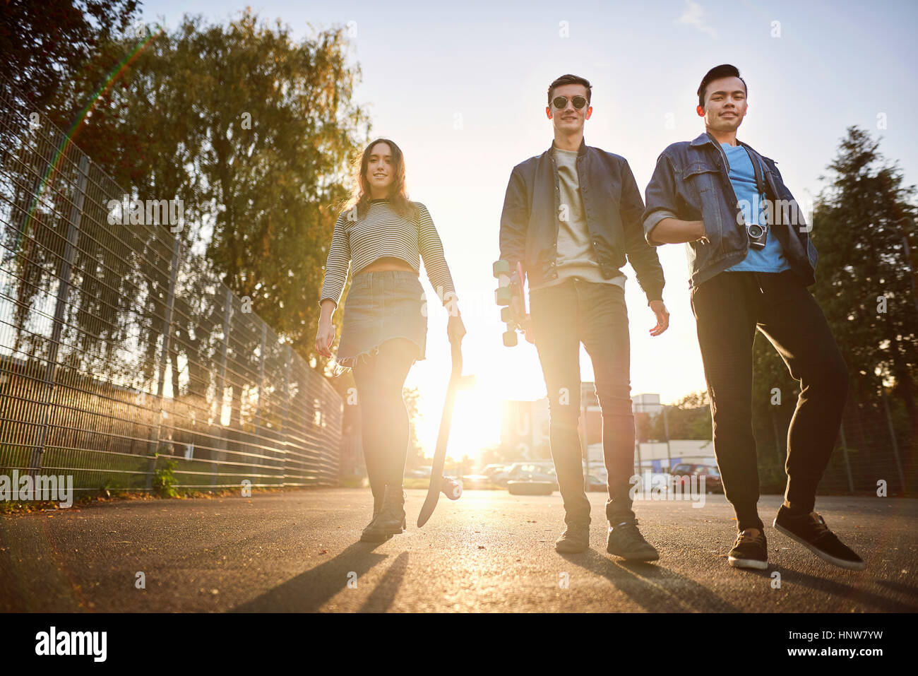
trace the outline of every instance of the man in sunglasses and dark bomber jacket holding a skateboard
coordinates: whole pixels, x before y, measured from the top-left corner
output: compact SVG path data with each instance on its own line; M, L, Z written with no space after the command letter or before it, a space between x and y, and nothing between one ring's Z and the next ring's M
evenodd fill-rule
M625 159L593 148L583 136L593 113L592 87L562 75L548 87L545 114L552 147L513 167L500 215L500 257L522 263L529 279L535 345L550 407L550 444L565 503L558 552L589 546L580 418L580 343L593 364L602 409L602 448L609 476L607 551L630 560L658 558L637 528L630 496L634 468L628 313L630 262L655 314L651 335L669 325L663 268L644 241L644 202Z

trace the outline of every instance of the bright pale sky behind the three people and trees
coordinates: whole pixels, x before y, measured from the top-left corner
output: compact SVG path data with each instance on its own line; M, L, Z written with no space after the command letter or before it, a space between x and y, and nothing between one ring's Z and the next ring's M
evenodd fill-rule
M245 6L235 0L147 0L143 19L174 28L184 14L226 23ZM696 90L701 76L733 63L748 85L749 111L738 138L778 162L804 208L845 130L881 136L880 152L918 183L913 114L914 2L254 2L269 22L294 35L347 27L350 59L362 80L354 100L368 108L371 136L405 152L409 196L423 202L440 233L467 335L465 373L477 386L461 392L451 456L475 456L498 441L499 402L534 400L545 386L535 347L504 347L491 264L498 258L500 210L512 167L552 142L546 90L575 73L593 85L588 145L624 156L642 192L670 143L704 129ZM651 337L653 313L633 269L629 308L632 393L664 403L705 389L689 306L684 244L658 248L666 274L669 329ZM819 269L817 268L817 275ZM428 299L435 294L422 272ZM429 302L427 358L406 387L420 388L421 444L432 453L450 372L446 313ZM581 377L592 367L581 347ZM755 387L770 387L756 383Z

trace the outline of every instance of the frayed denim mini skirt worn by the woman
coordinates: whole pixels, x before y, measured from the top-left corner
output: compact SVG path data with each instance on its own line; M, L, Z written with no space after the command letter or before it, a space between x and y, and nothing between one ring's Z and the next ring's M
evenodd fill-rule
M369 359L390 338L407 338L418 348L415 361L424 359L426 310L424 287L412 272L378 270L354 276L344 302L334 375Z

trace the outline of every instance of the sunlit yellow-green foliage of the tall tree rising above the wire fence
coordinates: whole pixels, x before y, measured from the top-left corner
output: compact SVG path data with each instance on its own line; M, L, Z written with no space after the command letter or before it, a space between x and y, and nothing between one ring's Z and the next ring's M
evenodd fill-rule
M130 33L107 41L95 71L77 78L74 103L85 104L106 69L141 40ZM184 201L178 236L204 259L192 265L251 299L252 312L306 358L337 208L369 133L352 101L360 70L347 51L345 28L295 40L289 27L250 9L226 25L186 16L154 34L80 131L81 145L97 148L94 161L136 197ZM195 317L196 293L177 296L175 321ZM180 329L191 353L212 340L207 326L222 322L204 320ZM191 383L207 381L196 360L188 364Z

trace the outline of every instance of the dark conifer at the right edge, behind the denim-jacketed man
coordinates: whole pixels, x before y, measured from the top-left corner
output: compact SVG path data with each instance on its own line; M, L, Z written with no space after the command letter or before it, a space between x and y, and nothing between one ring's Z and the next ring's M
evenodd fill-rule
M851 127L829 164L831 183L813 213L820 252L813 295L845 355L851 396L875 399L890 387L915 439L915 188L902 185L901 170L878 149L879 140Z

